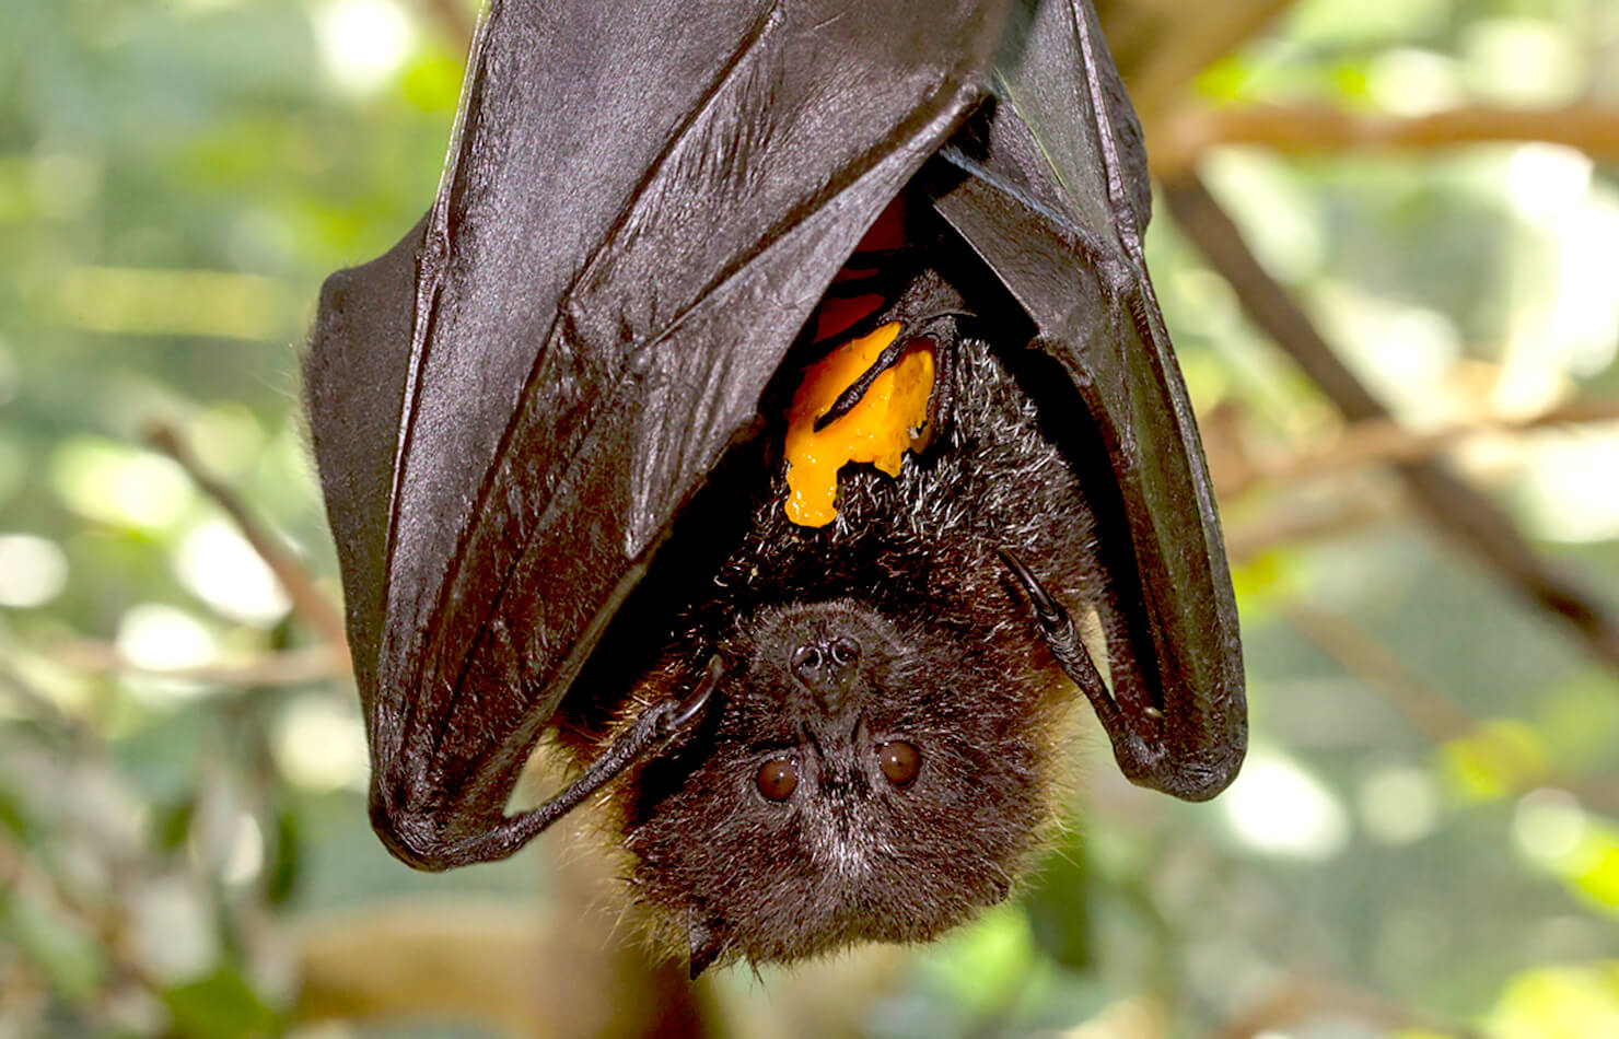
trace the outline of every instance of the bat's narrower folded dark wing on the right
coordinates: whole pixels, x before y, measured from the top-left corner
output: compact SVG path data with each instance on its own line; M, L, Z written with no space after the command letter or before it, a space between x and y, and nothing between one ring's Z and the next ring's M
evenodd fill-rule
M1141 129L1090 0L1020 3L994 92L945 149L957 173L933 186L934 204L1028 311L1106 447L1117 486L1115 531L1101 545L1117 712L1098 714L1119 764L1138 783L1211 798L1247 749L1237 607L1141 256L1151 206Z

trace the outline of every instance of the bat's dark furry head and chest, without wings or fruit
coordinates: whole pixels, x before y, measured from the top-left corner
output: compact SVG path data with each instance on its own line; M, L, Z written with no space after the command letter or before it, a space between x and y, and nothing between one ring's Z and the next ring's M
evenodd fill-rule
M1077 698L997 552L1033 560L1059 599L1099 600L1093 518L1007 359L963 338L949 372L949 426L899 477L845 469L826 528L787 518L774 435L748 445L597 660L633 659L620 646L661 623L662 652L578 683L628 680L617 720L591 722L593 696L563 706L565 728L593 732L570 744L584 764L724 660L703 725L609 809L631 900L693 973L936 937L1005 898L1054 822Z

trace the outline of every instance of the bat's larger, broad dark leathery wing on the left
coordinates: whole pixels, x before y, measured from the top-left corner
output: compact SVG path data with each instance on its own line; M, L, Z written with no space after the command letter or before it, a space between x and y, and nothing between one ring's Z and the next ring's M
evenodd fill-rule
M426 225L334 275L308 361L395 855L526 840L541 727L1002 8L491 3Z

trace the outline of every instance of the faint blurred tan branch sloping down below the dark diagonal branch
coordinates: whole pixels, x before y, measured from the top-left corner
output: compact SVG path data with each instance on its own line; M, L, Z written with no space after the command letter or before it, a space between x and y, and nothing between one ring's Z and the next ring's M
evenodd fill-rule
M1609 816L1619 814L1619 783L1613 777L1575 777L1548 769L1507 740L1496 738L1454 696L1415 675L1383 642L1342 613L1294 602L1287 623L1332 657L1345 672L1383 696L1405 723L1434 744L1473 740L1494 759L1496 772L1515 777L1517 790L1556 787Z

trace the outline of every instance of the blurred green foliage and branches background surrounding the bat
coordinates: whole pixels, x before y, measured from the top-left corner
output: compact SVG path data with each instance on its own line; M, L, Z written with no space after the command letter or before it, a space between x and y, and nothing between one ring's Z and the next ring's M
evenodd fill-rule
M1253 753L1098 735L1031 888L688 992L559 827L371 835L298 405L461 0L6 0L0 1039L1619 1036L1619 2L1111 0Z

